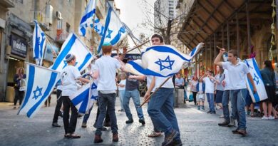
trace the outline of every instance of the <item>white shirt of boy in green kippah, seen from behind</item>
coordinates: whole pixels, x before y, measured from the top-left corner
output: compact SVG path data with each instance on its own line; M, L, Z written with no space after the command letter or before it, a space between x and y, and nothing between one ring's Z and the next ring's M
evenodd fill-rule
M111 56L101 56L95 65L98 70L97 90L117 90L115 74L116 69L120 68L120 62Z

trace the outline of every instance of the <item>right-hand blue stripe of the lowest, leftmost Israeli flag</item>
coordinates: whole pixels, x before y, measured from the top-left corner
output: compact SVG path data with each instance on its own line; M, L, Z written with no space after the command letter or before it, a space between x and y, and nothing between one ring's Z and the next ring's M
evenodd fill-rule
M46 88L46 91L43 93L41 99L28 111L27 117L31 117L34 111L38 108L39 105L44 101L44 99L48 98L48 95L52 92L53 85L55 85L56 77L58 73L51 73L51 78Z

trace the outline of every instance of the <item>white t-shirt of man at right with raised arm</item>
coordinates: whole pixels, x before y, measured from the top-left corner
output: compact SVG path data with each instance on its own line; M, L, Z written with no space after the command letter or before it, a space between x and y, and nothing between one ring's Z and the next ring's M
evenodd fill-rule
M230 62L223 62L222 66L229 72L227 76L229 78L230 90L245 89L246 74L249 73L249 68L245 63L238 62L237 65L233 65Z

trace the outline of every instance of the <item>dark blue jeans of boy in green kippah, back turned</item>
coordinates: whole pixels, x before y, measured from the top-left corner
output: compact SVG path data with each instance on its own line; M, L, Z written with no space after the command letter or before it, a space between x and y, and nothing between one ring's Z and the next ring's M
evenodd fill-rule
M103 127L103 120L106 115L106 108L108 108L108 114L111 121L112 133L118 133L117 118L115 116L115 93L103 94L98 91L98 108L100 114L98 115L98 121L96 122L96 135L101 135L101 128Z

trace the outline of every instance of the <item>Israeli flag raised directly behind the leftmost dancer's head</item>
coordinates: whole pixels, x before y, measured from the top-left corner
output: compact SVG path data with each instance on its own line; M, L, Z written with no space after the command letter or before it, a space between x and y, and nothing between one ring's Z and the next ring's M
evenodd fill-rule
M66 55L68 53L76 56L75 66L78 68L78 71L85 70L93 59L91 52L88 51L87 47L82 43L80 38L78 38L75 33L71 33L63 43L61 51L51 69L61 72L63 68L68 65L68 63L66 63Z

